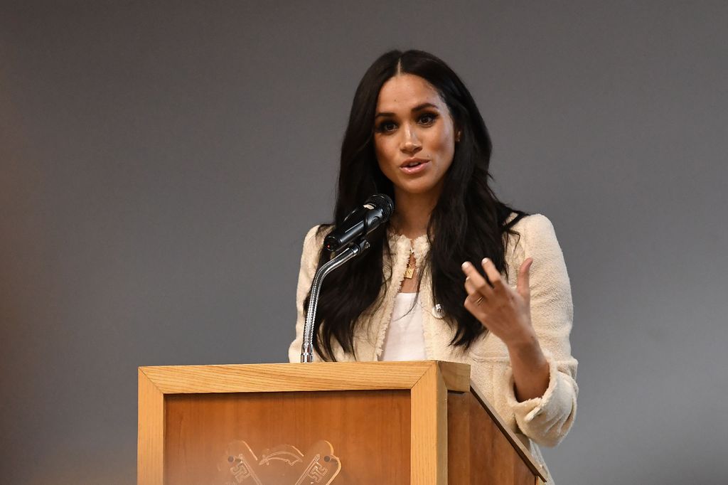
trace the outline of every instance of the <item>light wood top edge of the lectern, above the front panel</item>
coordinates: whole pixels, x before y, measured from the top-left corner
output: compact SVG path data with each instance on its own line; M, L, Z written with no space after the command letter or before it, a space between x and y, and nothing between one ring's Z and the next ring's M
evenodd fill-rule
M448 390L470 390L470 366L438 360L144 366L139 378L163 394L411 389L433 366Z

